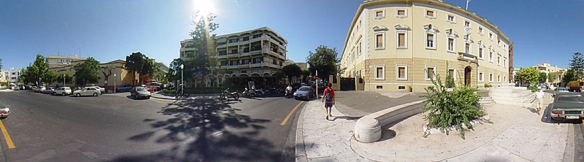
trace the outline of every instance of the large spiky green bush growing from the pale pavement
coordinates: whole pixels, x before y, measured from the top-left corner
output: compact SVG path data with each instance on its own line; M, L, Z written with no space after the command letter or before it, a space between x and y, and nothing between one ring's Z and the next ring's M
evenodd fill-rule
M453 81L453 78L447 77L447 80ZM464 132L472 127L471 120L482 119L490 122L481 116L482 111L478 108L479 96L475 93L477 88L460 84L463 86L454 87L453 91L449 92L438 74L432 83L434 87L425 88L427 95L422 95L427 98L422 113L427 113L424 119L428 122L428 127L439 128L442 132L449 133L446 128L454 126L460 131L460 137L465 139ZM427 134L424 133L423 136L427 137Z

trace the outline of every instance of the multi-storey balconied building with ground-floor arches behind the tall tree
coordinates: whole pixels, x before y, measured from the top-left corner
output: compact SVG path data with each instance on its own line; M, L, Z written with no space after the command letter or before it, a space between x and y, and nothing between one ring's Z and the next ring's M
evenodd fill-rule
M224 78L244 78L235 84L255 81L260 84L274 83L274 74L281 71L286 61L287 40L268 27L215 36L217 67L213 74L196 76L204 82L194 82L196 87L218 87ZM180 58L194 57L194 42L180 42Z

